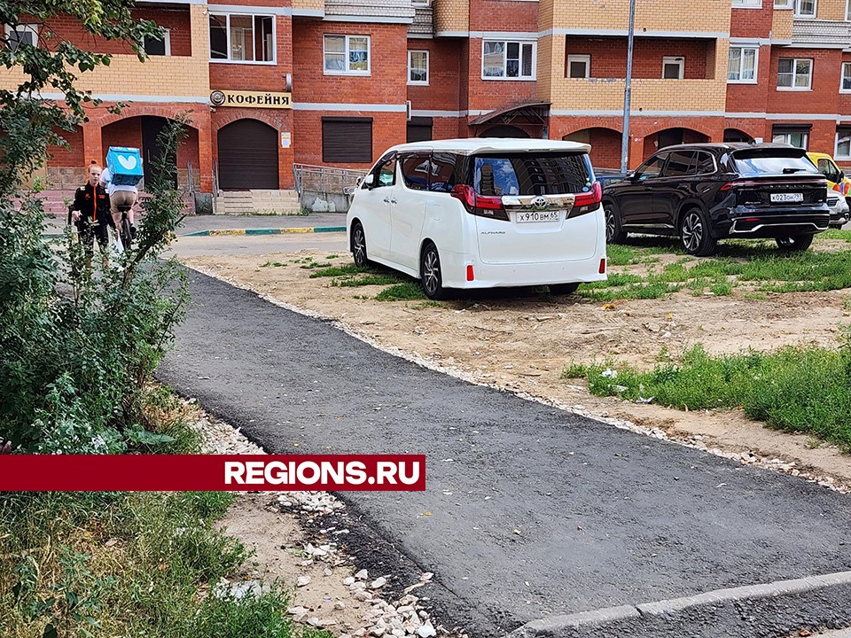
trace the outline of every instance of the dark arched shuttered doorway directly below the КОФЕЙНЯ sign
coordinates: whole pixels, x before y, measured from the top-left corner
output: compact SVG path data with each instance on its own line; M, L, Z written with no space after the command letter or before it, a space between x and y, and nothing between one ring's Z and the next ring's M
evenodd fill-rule
M219 188L278 188L277 130L258 120L237 120L219 129Z

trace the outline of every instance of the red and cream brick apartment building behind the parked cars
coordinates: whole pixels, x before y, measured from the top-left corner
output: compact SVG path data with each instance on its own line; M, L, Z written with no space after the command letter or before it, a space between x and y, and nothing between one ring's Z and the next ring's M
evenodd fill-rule
M293 163L366 168L392 144L451 136L580 140L598 167L620 165L627 0L137 7L166 28L144 64L71 20L19 28L113 53L82 87L128 104L92 109L52 153L58 188L110 145L141 147L152 170L156 135L179 112L191 118L180 180L202 192L288 189ZM847 0L636 0L629 165L668 144L750 139L851 163L848 18Z

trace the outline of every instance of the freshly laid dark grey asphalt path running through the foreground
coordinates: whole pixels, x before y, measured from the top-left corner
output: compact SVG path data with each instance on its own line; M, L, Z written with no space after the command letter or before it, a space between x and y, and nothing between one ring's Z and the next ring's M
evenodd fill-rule
M397 556L398 587L434 572L418 591L450 625L500 636L550 619L528 634L586 635L576 614L609 608L587 635L851 625L847 574L770 585L851 570L847 496L470 385L190 279L160 378L272 453L425 454L426 492L340 496L358 561L391 572ZM675 603L685 612L641 607L762 584Z

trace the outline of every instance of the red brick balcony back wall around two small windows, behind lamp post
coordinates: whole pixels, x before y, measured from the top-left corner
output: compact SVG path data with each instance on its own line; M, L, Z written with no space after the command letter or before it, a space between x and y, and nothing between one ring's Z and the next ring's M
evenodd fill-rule
M707 59L714 53L714 41L687 39L638 38L633 50L632 76L660 78L662 58L684 57L686 79L711 79L714 67L707 66ZM591 56L591 77L626 77L627 39L620 37L587 38L568 37L565 44L565 59L569 55ZM565 73L568 72L567 66Z

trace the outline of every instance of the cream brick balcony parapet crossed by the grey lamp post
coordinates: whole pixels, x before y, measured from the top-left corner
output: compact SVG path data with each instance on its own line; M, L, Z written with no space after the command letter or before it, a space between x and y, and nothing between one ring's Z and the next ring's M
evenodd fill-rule
M632 113L723 113L727 103L726 79L632 81ZM621 113L626 81L621 78L553 78L554 112Z

